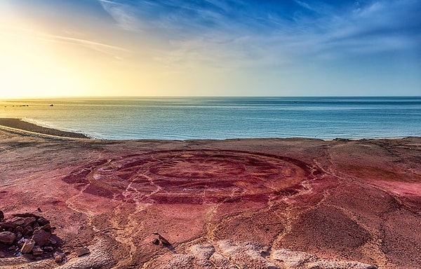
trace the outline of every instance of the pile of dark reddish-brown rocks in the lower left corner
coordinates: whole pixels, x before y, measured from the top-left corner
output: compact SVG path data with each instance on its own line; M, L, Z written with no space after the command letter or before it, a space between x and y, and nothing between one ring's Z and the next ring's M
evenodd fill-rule
M53 235L50 221L32 213L12 216L6 221L0 210L0 258L25 255L32 260L54 257L58 263L63 261L62 240Z

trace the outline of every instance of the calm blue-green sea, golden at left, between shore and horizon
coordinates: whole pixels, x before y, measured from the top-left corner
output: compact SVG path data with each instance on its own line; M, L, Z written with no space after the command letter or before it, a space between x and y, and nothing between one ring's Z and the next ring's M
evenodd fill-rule
M421 97L73 98L0 104L0 117L100 139L421 136Z

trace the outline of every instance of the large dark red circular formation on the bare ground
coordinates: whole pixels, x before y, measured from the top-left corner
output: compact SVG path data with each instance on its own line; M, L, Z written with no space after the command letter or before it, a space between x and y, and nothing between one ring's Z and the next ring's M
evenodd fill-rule
M65 177L84 192L127 202L265 202L298 193L314 170L300 160L245 151L155 151L100 160Z

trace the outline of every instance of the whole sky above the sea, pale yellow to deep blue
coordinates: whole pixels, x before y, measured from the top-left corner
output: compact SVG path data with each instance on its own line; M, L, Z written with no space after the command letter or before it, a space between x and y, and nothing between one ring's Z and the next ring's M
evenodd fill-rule
M0 0L0 98L421 95L420 0Z

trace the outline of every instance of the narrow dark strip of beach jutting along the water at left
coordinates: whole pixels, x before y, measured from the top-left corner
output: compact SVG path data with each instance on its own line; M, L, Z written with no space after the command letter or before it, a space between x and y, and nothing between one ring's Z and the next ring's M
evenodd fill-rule
M22 132L27 135L48 135L53 137L68 137L78 139L90 139L86 135L76 132L66 132L48 127L42 127L33 123L27 123L20 118L0 118L0 127L12 132Z

